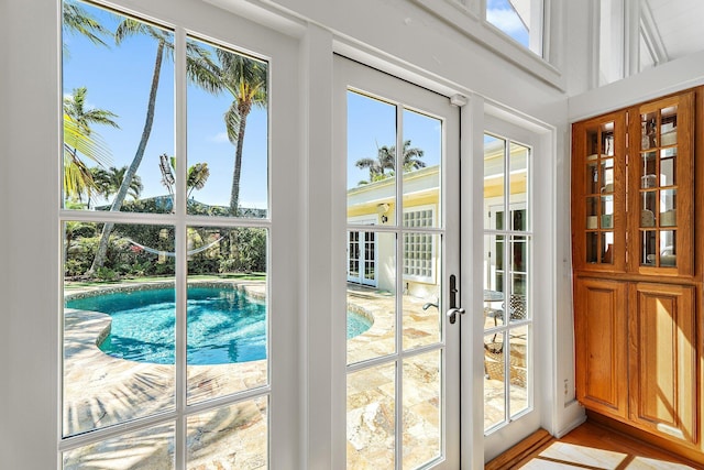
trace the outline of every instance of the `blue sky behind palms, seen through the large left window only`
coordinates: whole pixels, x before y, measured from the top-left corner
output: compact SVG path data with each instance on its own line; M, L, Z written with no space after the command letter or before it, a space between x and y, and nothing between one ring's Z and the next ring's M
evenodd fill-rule
M100 23L114 31L120 18L81 3ZM94 125L112 155L111 166L121 167L132 161L144 127L156 42L144 35L128 37L121 45L109 40L109 47L95 45L81 35L64 35L63 94L87 87L89 108L109 110L118 118L120 129ZM212 96L189 84L187 90L188 164L207 162L210 177L202 190L193 197L211 205L228 206L235 147L226 134L223 113L232 102L229 94ZM138 174L142 178L142 197L167 194L161 184L158 156L175 154L174 134L174 62L165 56L152 134ZM267 113L254 109L248 119L244 139L240 205L267 206ZM180 152L183 154L183 152ZM87 162L95 166L92 162ZM102 201L101 201L102 203Z

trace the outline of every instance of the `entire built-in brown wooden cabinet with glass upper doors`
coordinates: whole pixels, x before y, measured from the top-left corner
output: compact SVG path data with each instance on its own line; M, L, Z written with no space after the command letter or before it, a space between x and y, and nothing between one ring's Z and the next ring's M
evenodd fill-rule
M702 463L703 108L700 87L572 127L578 400Z

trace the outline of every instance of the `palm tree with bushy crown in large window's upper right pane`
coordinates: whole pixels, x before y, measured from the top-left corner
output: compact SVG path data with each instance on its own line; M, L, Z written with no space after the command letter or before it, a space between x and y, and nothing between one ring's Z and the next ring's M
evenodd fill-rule
M232 187L230 190L230 214L237 216L240 204L240 177L242 174L242 149L246 118L252 108L266 108L266 64L222 48L217 50L220 66L216 74L222 87L234 98L224 113L228 139L235 145Z

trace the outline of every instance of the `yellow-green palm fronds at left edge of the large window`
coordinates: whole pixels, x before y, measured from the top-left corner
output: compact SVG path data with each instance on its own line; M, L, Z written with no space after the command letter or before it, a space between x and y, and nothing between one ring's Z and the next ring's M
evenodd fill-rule
M110 125L113 128L120 128L118 123L112 119L118 116L113 112L105 109L88 109L86 108L86 95L88 89L86 87L75 88L73 95L64 98L64 114L72 119L75 123L76 130L80 135L86 138L92 136L91 124ZM66 133L66 132L65 132ZM95 182L92 174L88 171L85 162L78 156L78 150L76 146L68 145L70 136L64 138L65 153L67 152L72 157L64 159L64 188L67 196L77 197L81 199L81 194L87 193L88 199L90 199L91 192L95 189ZM92 155L86 155L91 160L96 160ZM98 163L105 162L98 160Z

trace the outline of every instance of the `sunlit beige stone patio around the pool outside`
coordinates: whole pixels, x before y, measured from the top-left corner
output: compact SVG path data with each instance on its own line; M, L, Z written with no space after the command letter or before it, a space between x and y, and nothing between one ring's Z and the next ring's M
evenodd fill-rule
M264 284L239 288L263 295ZM364 334L348 340L348 361L356 363L394 352L396 299L387 293L352 287L349 308L374 319ZM438 340L442 320L432 299L403 298L404 349ZM487 324L488 325L488 324ZM116 359L97 345L109 332L110 318L96 311L66 309L64 431L76 435L112 424L175 409L175 368ZM437 350L404 361L404 468L415 468L440 455L440 354ZM188 365L188 403L226 396L266 383L266 361L218 365ZM512 367L513 368L513 367ZM512 373L514 373L512 371ZM524 401L524 389L513 384L512 408ZM394 362L348 375L348 468L387 468L395 458ZM485 379L485 425L503 419L504 382ZM521 398L522 396L522 398ZM136 411L136 412L135 412ZM250 400L191 416L187 423L188 468L256 469L266 467L266 400ZM65 452L65 469L167 469L174 452L174 429L165 418L134 439L121 437Z

